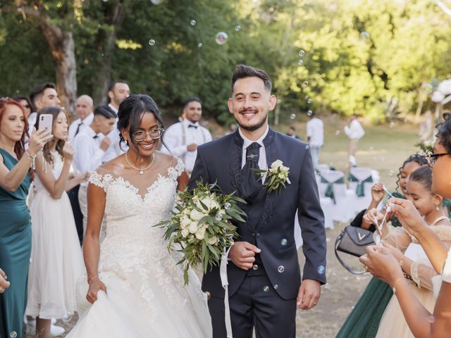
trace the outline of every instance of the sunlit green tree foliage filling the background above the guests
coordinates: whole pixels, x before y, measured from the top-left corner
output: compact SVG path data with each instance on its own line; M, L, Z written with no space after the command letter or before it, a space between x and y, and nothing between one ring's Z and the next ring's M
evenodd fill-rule
M187 96L199 96L205 115L221 123L231 119L226 101L237 63L271 75L282 119L314 109L361 113L384 122L393 112L415 111L431 94L421 94L422 86L449 73L450 18L427 0L15 3L35 6L73 32L79 94L94 92L101 65L111 58L111 78L127 80L132 92L150 94L167 110L180 107ZM12 1L0 0L0 5L0 93L28 93L37 82L54 81L54 63L39 25L11 11ZM115 29L111 21L118 5L123 20L110 55L105 37ZM237 25L241 30L235 30ZM221 31L228 42L218 45L215 35ZM390 111L393 100L397 106ZM426 101L424 107L429 106Z

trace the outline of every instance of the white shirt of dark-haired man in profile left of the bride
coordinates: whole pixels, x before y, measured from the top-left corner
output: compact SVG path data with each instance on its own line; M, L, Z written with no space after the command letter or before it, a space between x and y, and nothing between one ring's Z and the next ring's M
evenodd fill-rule
M73 168L78 173L92 173L99 165L105 151L101 150L99 137L92 127L87 127L77 134L73 140L74 156ZM87 186L87 182L80 183Z

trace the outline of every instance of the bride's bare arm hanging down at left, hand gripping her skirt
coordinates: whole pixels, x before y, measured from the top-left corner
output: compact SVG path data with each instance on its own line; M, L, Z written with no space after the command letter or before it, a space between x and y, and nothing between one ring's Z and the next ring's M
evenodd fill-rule
M99 253L100 253L100 229L101 221L105 211L105 192L101 187L89 184L87 187L87 228L83 237L83 255L87 271L87 282L89 289L86 299L89 303L97 301L99 289L106 292L106 287L98 275Z

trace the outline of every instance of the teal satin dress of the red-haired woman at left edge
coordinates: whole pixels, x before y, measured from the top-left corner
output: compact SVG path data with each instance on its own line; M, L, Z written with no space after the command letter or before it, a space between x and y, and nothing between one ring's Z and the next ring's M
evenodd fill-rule
M8 151L0 149L0 154L9 170L18 163ZM0 337L4 338L22 337L31 253L30 211L25 204L30 183L27 174L14 192L0 187L0 268L11 282L0 294Z

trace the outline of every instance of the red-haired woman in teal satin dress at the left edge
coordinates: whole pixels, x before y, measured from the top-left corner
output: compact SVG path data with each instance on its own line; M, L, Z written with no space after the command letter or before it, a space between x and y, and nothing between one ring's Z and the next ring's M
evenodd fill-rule
M22 106L0 99L0 268L10 286L0 294L0 337L22 337L31 251L30 211L25 204L30 166L51 139L39 130L25 151L28 123Z

